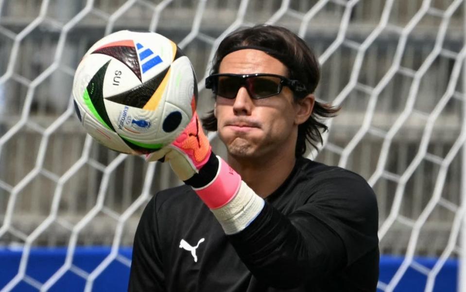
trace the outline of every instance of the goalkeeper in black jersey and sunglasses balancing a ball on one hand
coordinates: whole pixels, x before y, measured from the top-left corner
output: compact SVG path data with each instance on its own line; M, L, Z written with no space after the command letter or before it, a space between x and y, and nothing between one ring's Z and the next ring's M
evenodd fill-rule
M375 291L378 210L357 174L312 162L319 119L315 56L289 30L258 25L220 44L206 87L204 127L228 152L216 157L194 112L185 131L149 160L169 162L186 185L155 195L135 236L129 291Z

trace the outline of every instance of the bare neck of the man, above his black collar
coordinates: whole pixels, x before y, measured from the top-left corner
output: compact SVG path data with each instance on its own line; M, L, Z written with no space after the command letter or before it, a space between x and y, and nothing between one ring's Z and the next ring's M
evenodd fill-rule
M275 155L263 159L236 158L228 155L228 164L241 175L242 180L260 197L271 195L290 175L296 158L293 155Z

